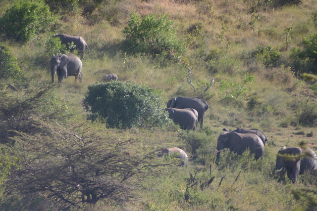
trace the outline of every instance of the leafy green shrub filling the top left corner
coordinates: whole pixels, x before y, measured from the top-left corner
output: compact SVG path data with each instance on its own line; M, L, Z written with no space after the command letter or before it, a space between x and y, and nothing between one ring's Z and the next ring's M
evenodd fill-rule
M16 41L27 41L50 29L57 20L43 0L18 0L0 18L0 31Z

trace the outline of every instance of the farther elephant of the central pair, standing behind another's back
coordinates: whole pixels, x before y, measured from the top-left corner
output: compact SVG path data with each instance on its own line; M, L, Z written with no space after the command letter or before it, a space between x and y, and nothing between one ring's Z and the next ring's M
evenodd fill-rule
M167 108L193 108L198 112L198 122L200 122L201 129L203 128L205 112L209 105L205 100L199 97L173 97L168 100Z

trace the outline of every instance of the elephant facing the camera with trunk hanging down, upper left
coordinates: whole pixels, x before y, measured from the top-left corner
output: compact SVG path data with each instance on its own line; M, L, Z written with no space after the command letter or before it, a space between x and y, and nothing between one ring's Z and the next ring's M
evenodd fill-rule
M68 76L75 76L75 82L77 78L82 82L82 67L83 63L74 54L69 54L68 56L65 54L53 55L51 58L52 83L54 83L54 75L56 72L58 83L62 83Z

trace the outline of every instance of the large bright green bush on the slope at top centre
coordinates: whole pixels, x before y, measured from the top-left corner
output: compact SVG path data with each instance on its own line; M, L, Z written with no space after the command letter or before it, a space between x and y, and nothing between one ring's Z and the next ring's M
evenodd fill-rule
M146 53L152 56L165 54L177 60L185 49L176 36L174 22L162 15L148 15L141 18L131 13L128 26L122 31L126 39L126 50L131 53Z

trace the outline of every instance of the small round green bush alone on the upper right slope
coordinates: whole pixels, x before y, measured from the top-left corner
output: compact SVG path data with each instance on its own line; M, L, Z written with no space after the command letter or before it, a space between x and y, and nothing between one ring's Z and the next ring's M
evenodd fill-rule
M266 67L276 67L280 64L281 53L272 48L270 45L258 45L257 49L252 53L252 57L261 61Z

